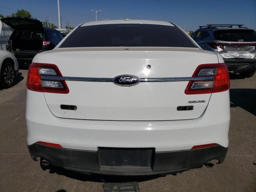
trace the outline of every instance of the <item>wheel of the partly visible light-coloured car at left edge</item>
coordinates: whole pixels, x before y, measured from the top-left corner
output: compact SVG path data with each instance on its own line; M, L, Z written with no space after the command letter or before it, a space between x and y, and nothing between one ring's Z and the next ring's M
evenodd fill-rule
M9 88L13 86L15 78L15 71L12 63L6 62L2 66L1 70L1 83L3 88Z

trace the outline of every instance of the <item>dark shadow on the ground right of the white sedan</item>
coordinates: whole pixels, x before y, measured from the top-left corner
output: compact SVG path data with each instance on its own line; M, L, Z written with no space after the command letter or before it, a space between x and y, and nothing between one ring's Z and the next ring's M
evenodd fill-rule
M256 115L256 89L230 89L230 107L240 107Z

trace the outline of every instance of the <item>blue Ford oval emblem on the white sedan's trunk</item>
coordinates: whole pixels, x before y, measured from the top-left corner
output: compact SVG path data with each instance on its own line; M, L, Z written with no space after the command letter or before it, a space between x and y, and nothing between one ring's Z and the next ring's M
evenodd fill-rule
M118 75L113 78L113 83L120 86L134 86L140 82L140 78L133 75Z

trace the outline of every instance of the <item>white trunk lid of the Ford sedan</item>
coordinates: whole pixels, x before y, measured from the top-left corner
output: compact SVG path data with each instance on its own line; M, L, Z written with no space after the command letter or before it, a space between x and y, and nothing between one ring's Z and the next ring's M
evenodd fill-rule
M197 66L218 63L216 54L199 48L58 48L38 57L38 63L56 64L64 77L139 78L191 77ZM150 65L151 68L147 68ZM185 94L188 81L140 82L118 86L113 82L67 81L68 94L44 92L51 112L60 118L84 120L185 120L198 118L211 94ZM200 100L203 102L189 103ZM64 110L60 105L74 105ZM193 106L193 110L177 110Z

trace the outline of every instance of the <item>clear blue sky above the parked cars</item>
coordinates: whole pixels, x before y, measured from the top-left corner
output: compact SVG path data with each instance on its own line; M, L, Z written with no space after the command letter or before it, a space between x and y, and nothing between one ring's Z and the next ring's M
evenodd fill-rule
M30 11L41 21L45 17L58 26L57 0L0 0L0 14L4 16L17 9ZM256 30L256 0L60 0L62 26L109 19L149 19L174 22L186 31L196 30L204 24L244 24ZM184 26L185 25L185 26Z

